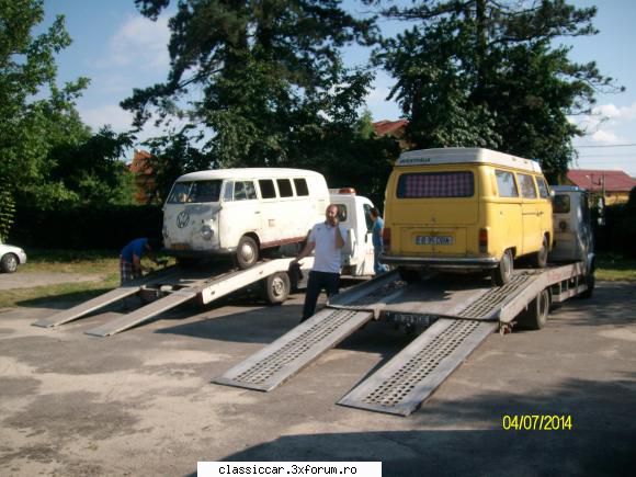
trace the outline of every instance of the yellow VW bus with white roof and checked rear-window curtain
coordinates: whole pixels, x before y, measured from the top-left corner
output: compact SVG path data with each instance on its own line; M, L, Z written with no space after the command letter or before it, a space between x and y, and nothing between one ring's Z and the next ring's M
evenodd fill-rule
M513 260L544 268L553 242L550 193L537 162L482 148L404 152L385 195L385 251L406 281L423 269L491 271Z

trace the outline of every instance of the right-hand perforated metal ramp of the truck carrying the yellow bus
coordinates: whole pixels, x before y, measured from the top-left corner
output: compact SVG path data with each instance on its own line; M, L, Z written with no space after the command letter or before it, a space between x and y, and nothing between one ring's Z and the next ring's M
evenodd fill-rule
M497 328L442 318L338 404L409 416Z

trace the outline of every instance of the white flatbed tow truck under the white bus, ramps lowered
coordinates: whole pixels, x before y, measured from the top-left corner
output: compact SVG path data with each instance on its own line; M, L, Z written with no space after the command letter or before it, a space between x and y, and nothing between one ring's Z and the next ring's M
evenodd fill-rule
M373 207L372 202L356 195L349 188L331 190L330 201L345 211L341 224L349 230L348 243L343 250L343 265L347 274L366 276L373 273L373 245L367 229L367 216L368 209ZM230 270L224 262L203 263L201 266L173 265L35 321L33 326L55 328L132 296L139 296L148 304L111 322L88 330L86 333L102 338L110 337L148 322L182 303L197 300L201 305L207 305L248 287L260 288L265 302L280 305L285 302L289 292L305 285L308 271L314 264L314 259L308 257L303 261L300 273L289 271L289 263L293 259L288 257L295 257L298 251L297 245L291 245L282 248L277 258L263 260L246 270Z

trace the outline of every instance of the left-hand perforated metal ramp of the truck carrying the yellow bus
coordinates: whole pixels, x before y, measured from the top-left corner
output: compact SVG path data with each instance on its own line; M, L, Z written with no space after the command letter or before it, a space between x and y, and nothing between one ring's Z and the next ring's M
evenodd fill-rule
M370 311L323 309L212 382L272 390L372 318Z

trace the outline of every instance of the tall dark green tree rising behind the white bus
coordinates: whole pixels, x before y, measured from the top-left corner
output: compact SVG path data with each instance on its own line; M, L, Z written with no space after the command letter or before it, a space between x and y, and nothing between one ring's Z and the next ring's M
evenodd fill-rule
M169 3L136 0L150 19ZM340 0L184 0L169 25L167 81L135 90L122 105L136 113L136 125L155 114L204 130L172 134L184 154L172 158L182 158L181 170L192 159L186 138L202 140L201 157L214 166L304 166L313 161L307 141L344 125L353 134L372 76L345 69L340 48L373 42L374 19L354 19ZM192 91L200 100L184 103Z

